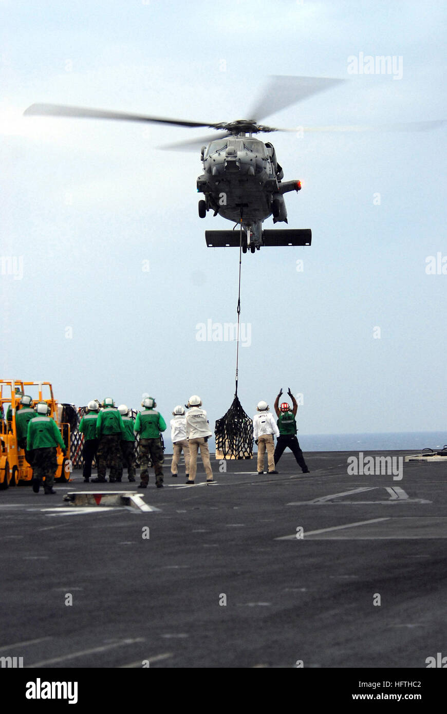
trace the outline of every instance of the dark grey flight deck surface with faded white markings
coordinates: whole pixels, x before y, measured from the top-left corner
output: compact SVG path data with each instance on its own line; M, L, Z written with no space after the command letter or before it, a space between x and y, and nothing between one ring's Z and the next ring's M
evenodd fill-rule
M348 456L305 453L304 475L286 453L278 476L212 459L209 486L200 459L186 486L166 456L165 488L151 470L138 491L150 513L63 501L137 491L126 475L0 493L0 655L34 670L426 668L447 655L446 465L349 476Z

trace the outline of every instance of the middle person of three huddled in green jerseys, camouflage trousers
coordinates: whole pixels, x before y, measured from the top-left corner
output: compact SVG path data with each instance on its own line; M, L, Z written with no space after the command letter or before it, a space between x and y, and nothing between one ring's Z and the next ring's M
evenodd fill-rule
M99 439L98 451L98 478L92 478L92 483L105 483L107 464L110 464L110 483L114 483L121 476L123 457L119 442L124 438L124 424L121 414L115 407L111 397L106 397L102 403L102 410L96 420L96 438Z

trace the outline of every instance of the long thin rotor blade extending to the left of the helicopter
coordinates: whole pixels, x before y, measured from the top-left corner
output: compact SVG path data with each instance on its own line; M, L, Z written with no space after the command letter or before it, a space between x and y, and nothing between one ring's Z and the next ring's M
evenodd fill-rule
M184 121L183 119L166 119L161 116L145 116L144 114L129 114L125 111L109 111L106 109L88 109L82 106L66 106L64 104L31 104L25 109L26 116L70 116L80 119L118 119L119 121L143 121L154 124L171 124L174 126L209 126L202 121Z

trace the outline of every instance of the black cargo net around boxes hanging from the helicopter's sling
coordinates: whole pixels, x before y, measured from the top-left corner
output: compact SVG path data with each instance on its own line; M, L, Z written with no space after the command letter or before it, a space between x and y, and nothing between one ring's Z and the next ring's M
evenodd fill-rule
M238 459L253 456L253 422L235 396L227 413L216 421L216 458Z

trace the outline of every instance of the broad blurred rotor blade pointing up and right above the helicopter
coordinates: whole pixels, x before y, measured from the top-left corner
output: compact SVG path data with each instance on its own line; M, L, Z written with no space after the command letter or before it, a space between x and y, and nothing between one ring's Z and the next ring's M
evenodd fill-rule
M329 77L293 77L286 75L271 76L263 94L258 99L251 112L251 119L260 121L266 116L276 114L286 106L308 99L313 94L331 89L331 87L347 81L346 79L331 79Z

